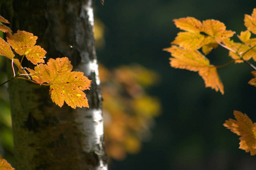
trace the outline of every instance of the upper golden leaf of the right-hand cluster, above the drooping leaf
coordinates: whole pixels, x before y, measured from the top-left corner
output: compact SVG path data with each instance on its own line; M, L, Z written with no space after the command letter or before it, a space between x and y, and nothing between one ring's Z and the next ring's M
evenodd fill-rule
M226 31L224 23L218 20L199 20L187 17L174 20L176 27L184 30L179 32L171 44L179 45L184 49L196 50L202 48L207 55L218 43L232 37L234 32Z

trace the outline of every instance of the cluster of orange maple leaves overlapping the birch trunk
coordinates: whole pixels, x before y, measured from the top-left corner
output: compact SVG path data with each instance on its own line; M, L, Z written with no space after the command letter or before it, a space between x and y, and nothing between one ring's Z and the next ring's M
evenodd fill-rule
M44 64L46 50L41 46L35 45L37 36L26 31L18 30L12 34L9 27L2 23L9 23L8 20L0 16L0 31L6 33L6 39L0 37L0 55L11 59L12 63L18 67L18 73L15 73L14 78L22 78L31 82L49 86L49 94L54 103L62 107L67 103L70 107L88 107L88 100L84 90L89 90L91 80L84 76L84 73L72 71L71 61L67 57L50 58L47 64ZM13 50L22 56L19 60L14 58ZM22 61L26 57L28 61L36 65L34 69L23 68ZM28 74L27 71L30 73Z

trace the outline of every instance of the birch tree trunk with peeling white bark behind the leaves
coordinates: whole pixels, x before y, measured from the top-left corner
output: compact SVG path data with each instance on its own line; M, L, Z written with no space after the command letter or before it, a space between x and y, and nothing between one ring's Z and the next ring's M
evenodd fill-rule
M5 0L1 11L14 33L38 36L47 58L68 57L75 71L92 80L86 91L89 109L59 108L47 87L9 83L15 168L107 169L92 0Z

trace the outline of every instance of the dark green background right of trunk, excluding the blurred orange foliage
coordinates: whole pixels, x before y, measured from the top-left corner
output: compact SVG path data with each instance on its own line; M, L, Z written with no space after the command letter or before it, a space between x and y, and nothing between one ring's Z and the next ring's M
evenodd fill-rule
M162 51L180 31L173 19L216 19L240 34L246 29L244 14L251 15L255 5L254 0L105 0L104 6L96 1L95 14L106 27L106 44L97 50L99 61L108 68L136 62L161 76L149 91L159 97L163 110L151 141L138 155L113 160L111 170L256 169L255 156L240 150L239 137L222 126L234 117L234 110L256 121L256 88L247 84L252 69L245 63L218 69L225 91L221 95L205 88L197 73L170 67L170 53ZM209 59L214 65L230 61L221 48Z

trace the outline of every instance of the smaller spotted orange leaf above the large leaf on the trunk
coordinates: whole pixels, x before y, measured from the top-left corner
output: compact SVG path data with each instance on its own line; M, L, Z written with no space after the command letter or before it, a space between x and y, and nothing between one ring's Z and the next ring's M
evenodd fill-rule
M44 63L46 51L36 44L37 36L26 31L17 31L13 36L7 36L7 42L20 56L25 55L26 58L34 65Z

